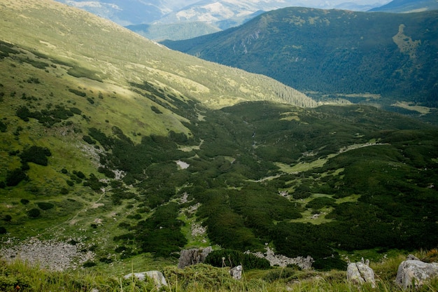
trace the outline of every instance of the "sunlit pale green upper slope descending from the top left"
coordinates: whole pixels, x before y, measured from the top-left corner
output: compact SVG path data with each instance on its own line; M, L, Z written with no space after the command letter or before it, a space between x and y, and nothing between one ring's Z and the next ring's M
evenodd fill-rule
M302 99L315 105L302 93L270 78L172 52L113 22L55 1L1 3L3 41L38 48L38 53L73 67L74 77L91 76L94 81L120 87L147 81L213 107L260 99Z

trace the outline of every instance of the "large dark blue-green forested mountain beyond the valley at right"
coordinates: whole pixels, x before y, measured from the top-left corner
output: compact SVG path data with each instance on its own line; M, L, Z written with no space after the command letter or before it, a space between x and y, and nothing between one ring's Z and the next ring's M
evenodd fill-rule
M407 101L437 107L436 20L437 11L285 8L238 28L163 43L271 76L320 100L342 98L386 108Z

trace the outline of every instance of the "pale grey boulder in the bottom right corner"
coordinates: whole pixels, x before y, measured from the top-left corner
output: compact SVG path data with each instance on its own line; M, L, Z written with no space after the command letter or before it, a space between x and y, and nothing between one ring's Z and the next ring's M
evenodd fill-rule
M438 263L424 263L421 260L404 260L400 263L395 283L403 289L413 283L416 288L422 286L430 278L438 277Z

